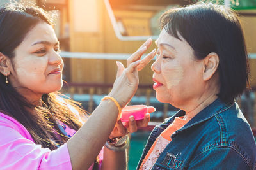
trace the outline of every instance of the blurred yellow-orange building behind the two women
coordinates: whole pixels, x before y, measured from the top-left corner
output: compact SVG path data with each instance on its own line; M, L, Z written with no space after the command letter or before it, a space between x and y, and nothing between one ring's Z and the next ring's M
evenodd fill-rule
M111 20L110 10L115 17ZM235 6L241 14L243 29L249 53L256 53L256 4L239 1ZM246 3L249 2L249 3ZM143 43L141 39L120 40L122 37L150 36L158 34L157 18L167 8L183 6L189 1L177 0L36 0L45 10L59 10L56 32L61 48L70 52L90 53L133 53ZM245 3L245 4L244 4ZM248 6L248 8L244 6ZM253 6L255 5L255 6ZM115 27L116 26L116 27ZM118 31L116 31L116 28ZM150 50L155 48L153 45ZM149 50L148 50L149 51ZM255 55L252 55L253 57ZM72 82L113 83L116 66L110 59L65 59L66 80ZM256 57L255 57L256 58ZM252 65L252 85L256 85L256 60ZM90 73L90 74L88 74ZM140 83L152 83L152 72L147 67L140 73Z

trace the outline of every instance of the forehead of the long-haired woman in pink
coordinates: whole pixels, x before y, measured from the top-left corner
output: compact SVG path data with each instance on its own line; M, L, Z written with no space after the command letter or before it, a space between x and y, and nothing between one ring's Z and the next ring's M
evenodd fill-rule
M26 45L33 45L33 43L37 41L49 41L53 44L58 41L51 25L45 22L36 24L35 27L28 32L22 43L26 43Z

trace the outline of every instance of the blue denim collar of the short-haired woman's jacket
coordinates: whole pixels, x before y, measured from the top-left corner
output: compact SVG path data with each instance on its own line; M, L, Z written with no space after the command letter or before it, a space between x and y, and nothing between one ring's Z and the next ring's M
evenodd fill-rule
M201 122L204 122L209 118L214 117L214 115L227 110L233 105L234 105L234 101L231 103L224 103L223 101L221 101L220 98L217 98L214 102L209 104L209 106L205 107L202 111L197 113L195 117L189 120L189 122L178 131L183 131L184 129L188 129L193 125L200 124ZM166 122L164 122L164 124L170 125L173 122L175 117L181 117L184 115L185 115L185 111L179 110L175 115L173 115L173 117L166 119Z

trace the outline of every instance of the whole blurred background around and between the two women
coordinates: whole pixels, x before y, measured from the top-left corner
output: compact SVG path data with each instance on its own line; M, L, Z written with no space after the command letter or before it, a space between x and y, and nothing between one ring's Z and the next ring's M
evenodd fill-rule
M15 0L12 0L15 1ZM17 0L19 1L19 0ZM23 0L24 1L24 0ZM186 6L189 0L25 0L44 10L56 10L56 35L65 62L61 92L79 101L92 112L100 99L110 91L116 76L115 61L125 60L149 37L156 39L160 30L158 18L170 8ZM10 0L0 0L0 5ZM244 116L255 134L256 109L256 0L219 0L236 10L243 25L250 62L252 89L237 98ZM148 52L156 48L153 45ZM152 63L151 63L152 64ZM154 125L172 116L177 108L159 103L152 89L151 64L140 72L140 86L129 104L154 106L147 128L131 134L129 169L135 169L148 135Z

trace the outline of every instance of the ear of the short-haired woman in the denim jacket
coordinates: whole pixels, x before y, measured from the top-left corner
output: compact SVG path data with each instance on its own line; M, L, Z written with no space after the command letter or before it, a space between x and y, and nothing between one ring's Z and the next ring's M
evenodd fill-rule
M210 80L214 73L217 71L219 66L219 56L217 53L209 53L204 58L204 73L203 79L204 81Z

